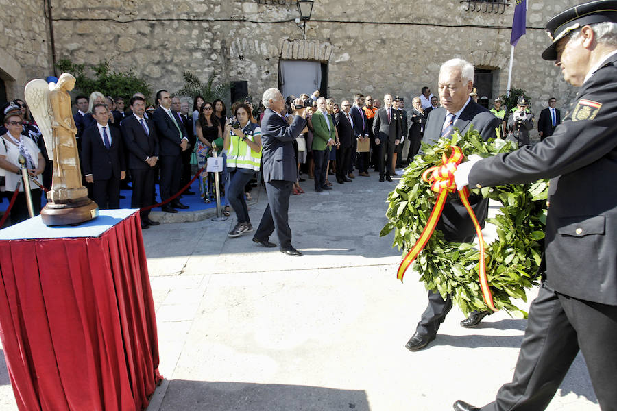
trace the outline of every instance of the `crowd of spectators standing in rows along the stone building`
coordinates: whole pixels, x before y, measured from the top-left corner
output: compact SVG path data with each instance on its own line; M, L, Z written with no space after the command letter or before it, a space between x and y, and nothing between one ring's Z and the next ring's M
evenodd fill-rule
M470 96L474 98L475 93ZM391 181L396 175L396 169L408 164L413 156L420 151L420 142L424 135L424 128L431 110L439 108L439 99L431 93L430 88L422 87L420 95L411 100L411 110L406 110L405 101L397 95L386 94L383 100L371 95L356 93L352 99L341 99L320 96L319 90L311 95L298 96L301 104L295 104L296 97L290 95L285 99L282 115L288 123L298 116L298 110L308 109L306 112L306 126L298 138L293 140L293 149L297 164L297 178L293 183L292 194L302 195L304 189L301 182L313 179L316 192L332 190L332 180L338 184L352 182L356 177L369 177L370 172L377 173L379 181ZM477 95L474 99L477 99ZM128 101L121 97L105 96L101 92L92 92L89 97L78 95L74 99L75 128L77 129L77 148L80 152L80 164L83 171L83 183L88 188L88 194L97 203L99 208L118 208L120 188L132 186L131 206L143 208L155 203L154 184L160 184L160 200L170 199L162 206L165 212L178 212L186 209L181 195L194 195L190 189L180 195L176 193L191 180L193 164L204 169L199 175L199 196L205 203L215 199L215 192L219 190L223 204L223 214L230 215L230 206L237 216L241 216L230 236L238 236L252 230L248 216L237 208L243 208L232 197L239 193L243 200L251 199L251 190L256 185L256 175L259 166L252 166L248 172L243 159L229 158L230 146L239 149L239 144L232 145L233 137L237 132L246 132L246 140L241 140L241 150L251 147L249 154L252 159L260 158L261 141L260 124L265 113L265 105L260 101L256 107L252 104L252 97L237 101L228 110L221 99L206 101L202 96L193 98L192 111L189 110L189 101L182 101L180 97L172 96L167 90L156 93L155 104L148 104L146 97L135 93ZM549 108L542 111L538 123L539 134L550 136L552 129L561 122L561 114L555 109L554 97L549 100ZM533 114L529 112L529 103L526 99L518 101L518 106L506 113L501 108L501 99L495 99L491 112L503 120L503 135L518 141L520 145L529 144L529 130L533 127ZM244 105L244 106L243 106ZM522 111L521 111L522 110ZM549 111L552 110L552 111ZM3 108L6 121L21 117L21 131L17 125L3 124L0 134L5 140L10 139L11 133L23 135L34 142L40 151L43 162L40 164L42 172L36 174L36 181L40 186L33 190L50 188L51 162L43 143L40 130L36 122L27 111L23 100L11 101ZM527 113L527 119L520 121L520 114ZM509 115L507 115L509 114ZM240 121L240 128L231 127L231 122ZM247 125L250 127L247 128ZM10 127L8 127L10 126ZM254 128L256 127L256 128ZM10 130L10 131L9 131ZM25 150L26 145L20 146ZM0 147L0 150L3 147ZM3 150L4 153L7 150ZM223 156L223 172L219 187L215 186L213 173L205 171L208 157ZM38 153L32 153L30 158L38 158ZM0 153L0 160L2 158ZM230 167L230 162L232 166ZM36 170L37 165L32 167ZM240 165L238 165L240 164ZM32 164L30 164L32 165ZM238 173L237 169L241 170ZM12 171L8 164L0 162L1 171ZM32 171L36 173L36 171ZM8 173L10 174L10 173ZM243 189L237 184L237 176L243 175L246 180ZM232 177L236 176L235 179ZM5 196L14 190L14 178L5 183ZM232 195L229 195L230 184ZM19 188L23 190L23 186ZM19 195L13 206L15 215L12 223L22 221L27 217L25 213L25 199ZM40 193L33 192L33 198L38 201ZM173 197L173 199L171 198ZM235 207L234 207L235 203ZM40 201L35 203L35 209L40 209ZM21 214L20 214L21 213ZM142 226L156 225L156 221L149 219L149 210L142 212ZM244 225L242 225L244 224Z

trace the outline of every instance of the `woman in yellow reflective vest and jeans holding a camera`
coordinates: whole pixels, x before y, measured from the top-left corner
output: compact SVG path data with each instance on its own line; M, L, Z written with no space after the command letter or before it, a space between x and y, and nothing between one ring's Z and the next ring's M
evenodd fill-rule
M249 113L250 108L247 104L236 105L234 118L228 121L223 133L223 148L227 150L227 170L230 181L226 197L238 219L235 227L228 233L230 237L239 237L253 231L244 198L244 186L259 171L261 128L250 121Z

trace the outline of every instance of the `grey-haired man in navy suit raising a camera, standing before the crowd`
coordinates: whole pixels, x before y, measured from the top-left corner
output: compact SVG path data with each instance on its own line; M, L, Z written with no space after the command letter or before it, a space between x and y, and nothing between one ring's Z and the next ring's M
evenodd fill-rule
M281 116L285 110L285 99L276 88L269 88L261 99L266 110L261 119L261 170L268 195L268 206L261 216L253 241L264 247L276 247L269 237L276 229L280 251L288 256L302 256L291 245L289 228L289 196L293 182L298 178L298 164L293 153L293 140L300 136L306 126L308 108L300 110L291 125ZM295 104L302 104L296 99Z

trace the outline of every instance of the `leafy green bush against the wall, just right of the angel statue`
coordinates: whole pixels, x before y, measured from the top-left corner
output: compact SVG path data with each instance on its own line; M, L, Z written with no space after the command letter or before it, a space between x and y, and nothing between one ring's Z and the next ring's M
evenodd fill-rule
M99 91L106 96L122 97L128 103L128 99L136 92L141 92L145 96L151 95L150 85L144 79L137 77L132 70L125 73L112 71L110 62L111 60L104 60L99 64L86 66L62 59L56 66L62 73L71 73L75 77L75 89L86 97L93 91ZM94 77L86 75L88 70L94 73Z

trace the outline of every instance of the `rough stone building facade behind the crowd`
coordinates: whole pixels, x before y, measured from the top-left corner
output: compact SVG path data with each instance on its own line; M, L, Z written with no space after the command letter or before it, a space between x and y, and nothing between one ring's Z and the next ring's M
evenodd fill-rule
M278 86L280 60L319 61L326 68L326 93L338 101L354 92L391 92L409 101L422 86L436 92L439 65L459 57L489 79L483 94L493 99L507 86L516 2L496 13L488 8L498 0L316 0L303 38L295 0L48 1L51 23L41 5L47 1L23 0L19 12L0 16L8 55L8 62L0 60L0 75L14 84L8 97L21 96L27 79L51 74L55 57L91 64L112 58L112 69L132 69L154 90L177 90L184 70L204 81L215 72L217 81L246 81L256 97ZM528 0L512 86L529 93L535 112L553 95L560 108L574 97L540 53L549 42L548 18L579 2Z

